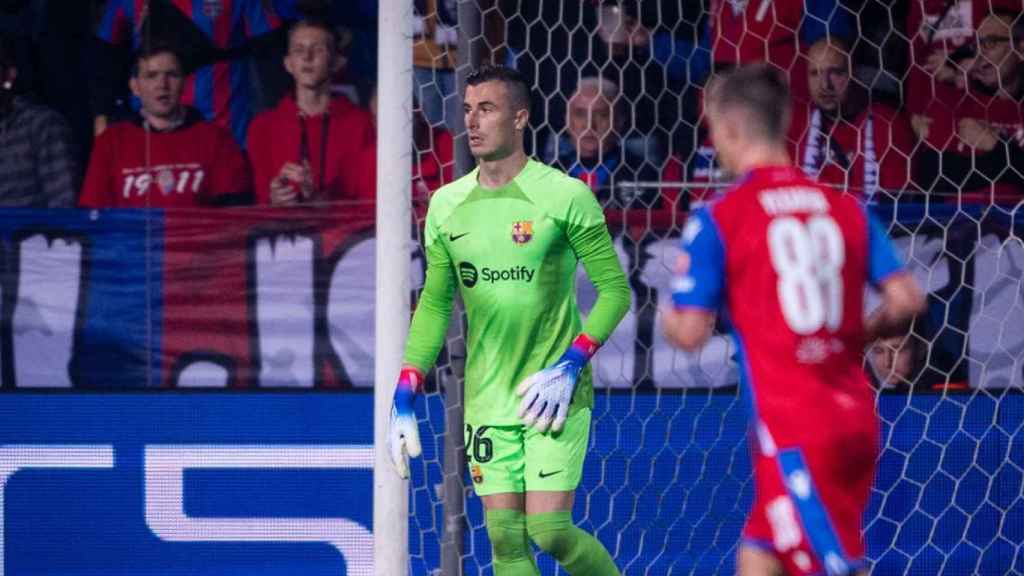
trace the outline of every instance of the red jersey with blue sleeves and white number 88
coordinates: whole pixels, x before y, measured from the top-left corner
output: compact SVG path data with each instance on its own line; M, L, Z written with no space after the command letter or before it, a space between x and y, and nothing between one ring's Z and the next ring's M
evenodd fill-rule
M902 264L857 200L793 166L758 168L694 211L682 242L673 302L725 308L744 390L776 443L821 434L840 414L873 417L864 288Z

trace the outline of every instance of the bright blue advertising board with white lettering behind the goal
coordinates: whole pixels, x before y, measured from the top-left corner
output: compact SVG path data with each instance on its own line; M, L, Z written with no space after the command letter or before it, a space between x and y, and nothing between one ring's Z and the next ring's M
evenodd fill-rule
M580 526L627 575L733 573L753 496L742 402L597 396ZM443 534L443 408L436 395L418 408L410 553L426 575ZM1024 568L1024 396L883 395L879 410L876 573ZM4 395L2 573L371 574L372 412L369 390ZM466 573L489 573L474 496L466 520Z

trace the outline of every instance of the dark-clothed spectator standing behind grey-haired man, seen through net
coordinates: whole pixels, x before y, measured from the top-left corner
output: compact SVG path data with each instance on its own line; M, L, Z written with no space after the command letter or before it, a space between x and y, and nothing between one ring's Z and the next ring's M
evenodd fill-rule
M621 106L630 119L620 134L625 146L660 167L677 128L685 124L682 111L689 109L682 100L688 75L698 73L700 58L695 54L703 52L692 45L687 49L671 31L648 24L640 17L639 3L630 0L523 5L510 22L509 39L514 66L545 96L535 102L531 115L541 119L534 126L539 156L556 159L567 152L569 142L550 134L562 132L579 80L600 76L620 87Z

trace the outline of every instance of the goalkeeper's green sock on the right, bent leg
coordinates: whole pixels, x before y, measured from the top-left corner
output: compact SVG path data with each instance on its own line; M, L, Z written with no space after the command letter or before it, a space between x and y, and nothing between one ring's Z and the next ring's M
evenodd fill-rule
M572 513L567 510L529 515L526 531L541 549L555 557L572 576L620 576L608 550L597 538L577 528Z

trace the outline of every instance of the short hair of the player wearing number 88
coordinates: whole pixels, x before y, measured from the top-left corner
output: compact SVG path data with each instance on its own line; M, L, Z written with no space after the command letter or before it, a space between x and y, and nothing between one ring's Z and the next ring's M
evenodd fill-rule
M714 82L710 96L719 114L743 114L743 126L751 136L769 141L785 138L790 85L775 67L759 63L727 72Z

